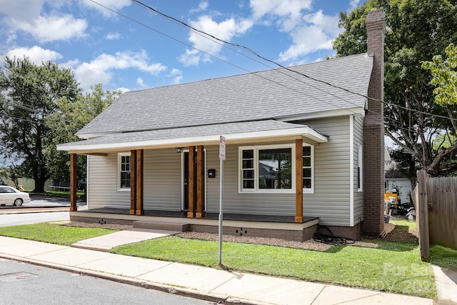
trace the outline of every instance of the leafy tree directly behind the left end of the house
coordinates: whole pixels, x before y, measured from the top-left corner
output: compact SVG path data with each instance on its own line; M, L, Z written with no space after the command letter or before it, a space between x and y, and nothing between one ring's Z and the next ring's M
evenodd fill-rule
M91 87L86 94L79 94L75 101L69 102L66 97L59 99L59 111L54 111L46 118L46 123L54 131L51 144L46 147L45 155L48 159L51 178L54 181L69 181L70 157L66 151L57 151L56 146L81 139L75 136L76 132L101 114L121 95L121 91L104 91L101 84ZM86 156L78 156L77 179L86 179Z

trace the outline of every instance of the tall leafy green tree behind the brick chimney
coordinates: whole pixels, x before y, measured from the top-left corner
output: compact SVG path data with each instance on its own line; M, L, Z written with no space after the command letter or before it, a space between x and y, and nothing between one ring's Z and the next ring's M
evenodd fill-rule
M386 20L386 134L398 151L412 156L418 169L446 176L457 169L457 145L435 149L433 141L440 134L456 133L455 109L434 102L432 76L421 63L457 41L456 0L368 0L350 13L341 12L344 31L333 42L337 56L366 51L366 15L381 7Z

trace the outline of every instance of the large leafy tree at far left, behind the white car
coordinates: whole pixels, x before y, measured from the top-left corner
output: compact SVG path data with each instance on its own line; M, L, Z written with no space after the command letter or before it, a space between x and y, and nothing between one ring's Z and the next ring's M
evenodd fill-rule
M0 70L0 153L22 160L24 178L34 179L36 192L43 192L51 177L45 151L54 131L46 117L59 109L59 99L72 102L80 91L70 69L51 61L38 66L27 57L5 58Z

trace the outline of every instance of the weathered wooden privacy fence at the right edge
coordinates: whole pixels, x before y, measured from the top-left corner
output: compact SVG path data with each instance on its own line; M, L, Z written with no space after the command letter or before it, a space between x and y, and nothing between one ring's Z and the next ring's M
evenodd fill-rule
M421 259L430 259L430 244L457 249L457 177L428 177L417 172L412 198L416 209Z

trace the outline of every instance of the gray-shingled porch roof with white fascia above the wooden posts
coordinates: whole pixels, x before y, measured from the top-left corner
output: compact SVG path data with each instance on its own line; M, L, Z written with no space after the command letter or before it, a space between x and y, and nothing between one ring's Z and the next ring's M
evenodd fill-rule
M319 134L309 126L266 120L106 134L93 139L61 144L57 149L69 151L71 154L103 154L131 149L219 145L220 136L225 136L227 145L294 139L303 139L309 144L328 141L327 136Z

